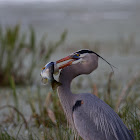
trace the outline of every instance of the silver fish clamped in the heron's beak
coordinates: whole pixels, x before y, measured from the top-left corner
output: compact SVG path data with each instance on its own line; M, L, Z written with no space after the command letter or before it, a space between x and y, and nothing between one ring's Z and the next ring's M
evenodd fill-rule
M41 77L42 77L42 81L43 82L47 82L49 81L51 83L52 89L55 90L58 86L61 85L61 83L57 82L54 77L53 74L55 72L58 72L59 69L57 68L57 65L55 62L49 62L47 63L41 71Z

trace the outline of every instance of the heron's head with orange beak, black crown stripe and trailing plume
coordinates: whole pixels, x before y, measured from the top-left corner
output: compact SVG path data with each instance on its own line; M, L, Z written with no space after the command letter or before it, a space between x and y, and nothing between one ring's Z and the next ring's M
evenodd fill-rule
M79 50L56 61L56 64L59 65L59 63L63 63L58 67L59 69L63 69L70 65L75 65L77 69L82 69L85 74L89 74L98 67L98 57L106 61L103 57L91 50ZM111 65L109 62L107 63L111 68L113 67L113 65Z

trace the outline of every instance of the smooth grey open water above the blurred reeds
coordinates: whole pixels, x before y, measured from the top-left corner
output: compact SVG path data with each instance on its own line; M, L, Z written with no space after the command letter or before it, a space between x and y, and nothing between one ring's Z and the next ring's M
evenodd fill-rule
M25 1L24 1L25 2ZM67 42L77 40L116 40L121 35L140 36L140 2L61 1L6 3L0 5L0 24L21 23L24 31L33 25L40 37L44 32L57 39L67 29Z

